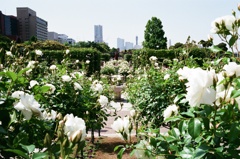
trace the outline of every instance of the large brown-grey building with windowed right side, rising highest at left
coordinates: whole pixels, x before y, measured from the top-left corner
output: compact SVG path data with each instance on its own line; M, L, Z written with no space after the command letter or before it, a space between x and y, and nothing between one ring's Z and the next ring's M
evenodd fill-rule
M48 23L37 17L35 11L27 7L17 8L17 19L19 21L19 35L22 41L30 40L32 36L38 40L47 40Z

